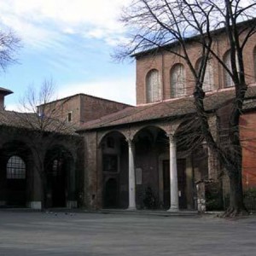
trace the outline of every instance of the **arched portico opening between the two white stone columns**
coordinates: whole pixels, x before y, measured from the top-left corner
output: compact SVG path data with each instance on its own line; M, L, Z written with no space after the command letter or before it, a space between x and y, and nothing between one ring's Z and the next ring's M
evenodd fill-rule
M144 127L135 135L134 144L137 209L163 208L162 165L169 158L166 132L156 126Z

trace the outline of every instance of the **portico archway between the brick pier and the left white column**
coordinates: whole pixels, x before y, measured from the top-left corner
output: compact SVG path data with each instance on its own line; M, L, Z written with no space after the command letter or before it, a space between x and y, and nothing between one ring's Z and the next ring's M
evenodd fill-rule
M128 144L118 131L102 138L102 207L127 208L129 201Z

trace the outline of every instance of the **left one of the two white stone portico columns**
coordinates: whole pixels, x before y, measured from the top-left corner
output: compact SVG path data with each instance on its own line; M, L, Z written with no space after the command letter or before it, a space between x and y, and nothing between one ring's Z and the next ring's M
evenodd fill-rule
M134 168L134 144L128 140L129 150L129 206L127 210L136 210L136 184Z

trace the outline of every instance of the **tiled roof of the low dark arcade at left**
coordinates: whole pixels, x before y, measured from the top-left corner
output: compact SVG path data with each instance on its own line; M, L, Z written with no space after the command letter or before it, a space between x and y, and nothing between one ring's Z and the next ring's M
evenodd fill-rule
M38 116L37 113L19 113L15 111L0 111L0 125L28 129L32 131L56 132L60 134L75 134L75 127L58 119Z

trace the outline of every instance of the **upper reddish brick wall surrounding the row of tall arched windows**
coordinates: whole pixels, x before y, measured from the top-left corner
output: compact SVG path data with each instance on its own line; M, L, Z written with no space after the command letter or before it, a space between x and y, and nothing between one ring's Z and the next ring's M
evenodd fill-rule
M256 45L255 39L256 35L253 35L253 37L248 40L243 52L245 73L248 84L255 83L253 67L253 49ZM222 59L229 48L230 47L224 33L219 34L214 38L213 49ZM201 51L200 45L188 43L187 50L190 60L195 67L196 62L201 56L199 54ZM147 103L145 81L147 73L154 68L160 73L160 83L163 88L162 100L166 100L171 97L170 71L177 63L183 64L185 68L187 95L191 95L195 87L194 77L189 70L188 64L182 58L168 52L137 56L137 105ZM212 69L214 90L224 88L224 68L221 67L215 58L212 58Z

